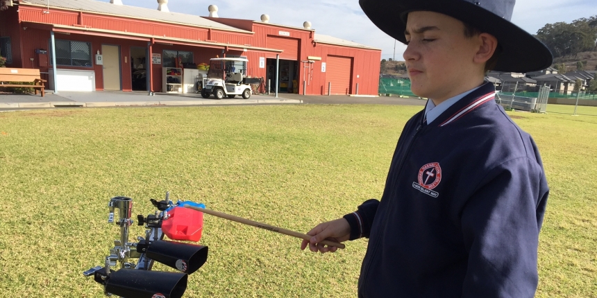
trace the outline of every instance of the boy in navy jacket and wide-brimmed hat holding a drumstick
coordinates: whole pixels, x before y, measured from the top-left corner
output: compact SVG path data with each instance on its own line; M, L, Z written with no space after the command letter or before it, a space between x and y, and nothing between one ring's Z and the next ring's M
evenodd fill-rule
M510 22L514 0L360 5L407 44L412 92L430 100L398 139L381 200L317 225L301 249L369 238L359 297L533 297L546 177L484 78L545 69L550 52Z

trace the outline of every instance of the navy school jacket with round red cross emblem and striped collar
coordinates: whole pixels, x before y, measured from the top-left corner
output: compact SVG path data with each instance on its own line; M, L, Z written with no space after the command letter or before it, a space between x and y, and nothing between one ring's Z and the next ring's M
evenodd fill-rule
M359 297L533 297L548 186L537 146L491 83L414 115L380 201L344 216L369 245Z

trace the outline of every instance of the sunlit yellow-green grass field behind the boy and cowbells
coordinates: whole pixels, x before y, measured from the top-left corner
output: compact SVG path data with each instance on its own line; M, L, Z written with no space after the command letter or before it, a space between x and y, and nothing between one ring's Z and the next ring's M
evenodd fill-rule
M119 228L108 200L203 202L308 231L379 198L396 140L421 107L296 105L51 109L0 113L0 292L103 297L82 272ZM511 112L550 184L537 297L597 297L597 117ZM597 108L587 108L597 114ZM566 111L562 112L565 113ZM135 217L135 216L133 216ZM136 218L135 218L136 219ZM131 227L131 237L144 229ZM185 297L355 297L367 240L336 254L205 215L208 263ZM157 266L158 270L169 270Z

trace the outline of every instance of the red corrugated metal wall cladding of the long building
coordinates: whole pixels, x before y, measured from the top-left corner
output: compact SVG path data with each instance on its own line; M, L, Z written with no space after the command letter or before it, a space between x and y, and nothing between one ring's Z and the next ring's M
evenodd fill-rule
M190 26L179 26L159 23L157 21L127 19L124 17L111 17L104 15L93 15L90 12L73 12L52 9L50 14L44 14L44 8L37 8L31 6L21 5L19 8L19 19L21 21L31 21L47 24L62 24L73 26L75 24L90 26L92 28L103 28L106 30L118 30L127 33L142 33L155 36L176 37L190 40L214 40L221 43L236 44L237 46L254 46L262 48L274 48L285 50L281 55L281 59L299 61L299 92L303 93L302 80L307 73L301 61L307 60L308 56L317 56L321 61L316 61L312 64L312 80L307 86L307 94L327 94L327 73L321 72L321 62L326 62L328 56L338 56L350 58L352 60L352 70L350 72L350 87L346 88L349 92L354 93L356 84L359 84L360 94L377 94L378 93L378 78L379 78L379 61L381 59L381 51L351 48L346 46L335 46L330 44L315 44L313 41L313 32L310 30L301 30L299 28L288 28L284 26L276 26L274 24L253 23L254 34L234 33L224 30L214 30L207 28L195 28ZM6 12L0 12L0 16L5 16ZM18 55L19 63L21 61L29 62L29 58L34 57L35 49L47 49L47 40L49 40L48 30L37 30L29 28L24 31L19 29L16 12L13 13L13 19L8 15L7 26L3 26L0 30L19 31L22 36L23 46L20 48L14 40L13 53L26 53ZM4 19L3 20L4 24ZM221 22L225 23L225 20ZM10 24L8 24L10 23ZM244 24L244 23L242 23ZM249 24L249 21L246 21ZM248 26L248 25L247 25ZM16 29L10 29L15 27ZM1 32L1 31L0 31ZM19 35L17 35L17 39ZM92 43L92 52L96 53L101 48L101 44L115 44L121 46L121 56L128 57L131 46L144 46L146 42L127 40L126 37L112 38L92 35L60 35L56 34L57 39L63 40L78 40ZM165 38L167 40L167 38ZM19 42L21 42L19 40ZM292 45L291 45L292 43ZM20 49L18 49L20 48ZM162 50L169 49L173 51L192 51L194 53L194 62L199 64L201 62L208 63L209 58L214 58L216 55L222 56L221 49L212 49L190 45L176 44L169 46L165 44L154 44L153 53L162 53ZM237 51L237 49L229 49L228 55L244 55L249 58L248 74L252 77L265 77L266 69L259 67L260 58L276 58L276 53L259 52L249 50L246 52ZM16 58L17 56L13 56ZM151 58L148 58L151 60ZM131 90L131 64L130 61L121 62L122 65L122 87L123 90ZM24 63L24 67L28 67ZM31 66L30 66L31 67ZM329 67L329 66L328 66ZM61 68L61 67L60 67ZM77 69L76 67L65 67L69 69ZM96 71L96 89L103 89L103 81L101 74L101 66L92 67ZM47 72L47 69L40 69L42 72ZM344 81L346 79L343 79ZM273 82L272 82L273 83ZM162 65L154 64L153 67L153 90L160 91L162 86ZM337 86L333 86L337 87Z

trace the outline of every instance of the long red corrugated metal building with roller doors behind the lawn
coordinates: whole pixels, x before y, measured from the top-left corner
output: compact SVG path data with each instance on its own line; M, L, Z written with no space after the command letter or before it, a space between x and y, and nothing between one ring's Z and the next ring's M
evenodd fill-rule
M263 78L264 85L270 80L272 91L277 71L281 93L378 93L380 49L319 35L309 26L92 0L8 4L0 10L0 55L8 57L6 66L40 69L49 87L58 80L58 90L89 85L97 91L162 92L163 69L178 66L175 58L192 65L217 56L244 56L249 59L246 75ZM60 79L53 73L53 51Z

